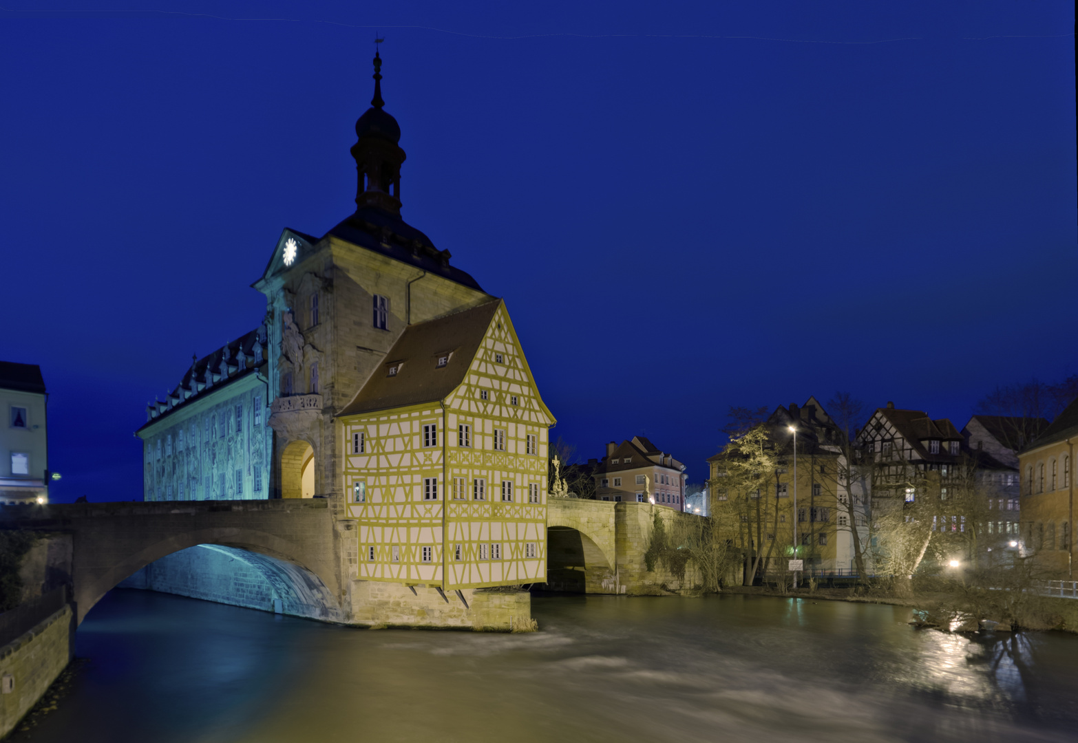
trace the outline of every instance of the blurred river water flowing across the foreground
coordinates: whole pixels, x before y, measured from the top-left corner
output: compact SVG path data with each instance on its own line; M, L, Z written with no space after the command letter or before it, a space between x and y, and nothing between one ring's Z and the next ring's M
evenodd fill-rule
M113 590L13 741L1075 741L1078 636L970 641L909 609L536 597L540 632L356 630Z

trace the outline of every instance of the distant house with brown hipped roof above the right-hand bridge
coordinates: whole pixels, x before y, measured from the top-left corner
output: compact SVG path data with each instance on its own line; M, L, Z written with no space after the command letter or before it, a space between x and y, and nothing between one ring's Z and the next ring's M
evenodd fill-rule
M607 444L594 473L595 499L685 510L685 465L644 436Z

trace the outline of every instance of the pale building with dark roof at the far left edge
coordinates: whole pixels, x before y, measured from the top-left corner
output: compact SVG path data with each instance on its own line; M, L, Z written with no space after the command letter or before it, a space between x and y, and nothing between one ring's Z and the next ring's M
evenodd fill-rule
M41 367L0 361L0 503L47 503L49 393Z

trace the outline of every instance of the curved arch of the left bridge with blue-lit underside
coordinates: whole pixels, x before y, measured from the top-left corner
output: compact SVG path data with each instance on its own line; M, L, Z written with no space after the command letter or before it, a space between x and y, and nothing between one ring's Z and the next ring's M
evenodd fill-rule
M77 564L74 599L78 621L81 623L94 605L124 580L158 560L180 553L195 560L196 569L199 564L213 564L213 558L218 557L218 564L222 560L238 561L260 575L271 587L272 597L279 601L277 606L267 601L261 608L279 609L285 614L313 619L343 620L341 603L336 598L338 586L332 566L295 552L294 546L286 539L255 529L225 527L172 533L149 544L144 543L141 549L116 555L115 561L110 561L103 569L95 569L97 566L86 563ZM244 601L222 603L259 607Z

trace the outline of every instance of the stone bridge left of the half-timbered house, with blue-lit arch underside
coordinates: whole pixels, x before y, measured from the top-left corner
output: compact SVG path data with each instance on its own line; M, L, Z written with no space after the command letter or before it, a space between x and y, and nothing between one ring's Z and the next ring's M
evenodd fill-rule
M68 572L80 623L102 595L125 579L199 545L212 548L196 552L210 559L199 560L203 565L211 564L213 557L231 559L272 587L273 595L252 607L346 621L337 557L343 550L329 506L321 499L50 504L5 507L0 525L71 541L68 564L51 570ZM213 576L203 577L211 583ZM234 576L224 577L223 591L243 593ZM275 606L274 601L279 603Z

